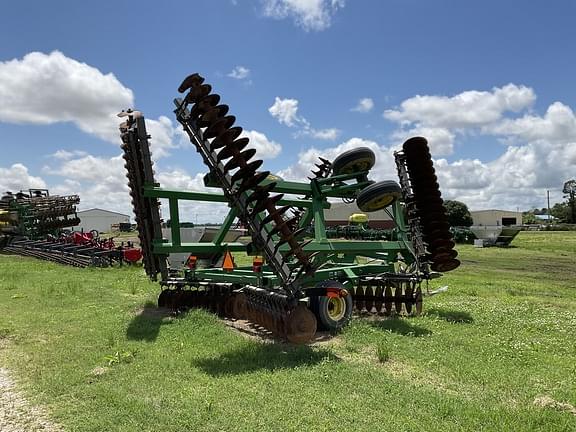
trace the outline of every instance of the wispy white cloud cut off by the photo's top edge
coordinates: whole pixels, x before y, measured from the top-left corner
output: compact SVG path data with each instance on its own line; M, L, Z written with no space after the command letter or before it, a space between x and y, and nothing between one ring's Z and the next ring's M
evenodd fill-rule
M330 27L333 16L344 4L344 0L262 0L265 16L292 18L305 31L321 31Z

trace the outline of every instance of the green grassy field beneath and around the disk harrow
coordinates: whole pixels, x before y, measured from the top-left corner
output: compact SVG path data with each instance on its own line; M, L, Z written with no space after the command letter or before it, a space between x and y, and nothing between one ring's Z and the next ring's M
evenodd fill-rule
M0 366L69 431L576 430L576 233L460 247L408 319L313 346L154 307L141 269L0 256Z

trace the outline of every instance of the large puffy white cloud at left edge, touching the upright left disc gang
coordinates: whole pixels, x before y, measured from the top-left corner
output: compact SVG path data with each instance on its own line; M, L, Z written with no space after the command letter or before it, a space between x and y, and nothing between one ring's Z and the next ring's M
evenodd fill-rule
M84 132L118 142L115 114L133 105L132 91L116 77L59 51L32 52L0 62L0 121L73 122Z

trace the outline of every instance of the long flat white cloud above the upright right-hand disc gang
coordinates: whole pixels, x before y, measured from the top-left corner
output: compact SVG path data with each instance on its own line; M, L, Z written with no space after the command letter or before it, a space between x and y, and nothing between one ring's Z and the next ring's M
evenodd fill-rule
M480 127L502 118L505 112L519 112L535 101L534 91L508 84L492 91L465 91L456 96L414 96L396 110L384 111L394 122L429 127Z

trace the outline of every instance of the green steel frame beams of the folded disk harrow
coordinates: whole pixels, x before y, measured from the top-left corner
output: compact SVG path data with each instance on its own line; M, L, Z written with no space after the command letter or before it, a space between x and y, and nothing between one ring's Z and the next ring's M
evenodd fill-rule
M404 218L404 208L399 201L391 206L391 216L396 223L395 240L392 241L340 241L329 240L326 237L326 221L324 210L331 207L328 198L354 198L359 190L371 184L367 178L367 171L354 174L344 174L328 178L312 179L310 183L300 183L278 179L265 180L263 185L275 182L275 193L303 196L302 199L282 199L278 205L290 205L304 208L305 212L300 226L314 225L314 239L305 246L309 253L317 252L315 264L318 270L313 275L305 276L302 280L304 286L313 286L317 282L327 279L339 280L343 283L355 283L363 276L378 275L393 272L398 254L401 254L406 264L414 261L410 242L407 237L407 227ZM354 183L346 183L354 181ZM207 186L218 187L211 184L209 177L205 178ZM214 241L209 243L183 243L180 236L180 201L201 201L228 203L222 193L181 191L164 189L157 184L146 185L144 196L147 198L167 199L171 221L171 241L154 239L152 253L167 255L170 253L224 253L245 252L256 255L250 247L239 242L224 242L226 233L230 230L237 212L231 209L224 223L217 232ZM283 246L280 251L287 251ZM376 260L377 263L358 263L357 257L366 257ZM187 269L184 271L187 281L231 283L238 285L255 285L261 287L274 287L279 281L267 266L263 266L260 273L255 273L251 266L237 267L232 271L220 268Z

